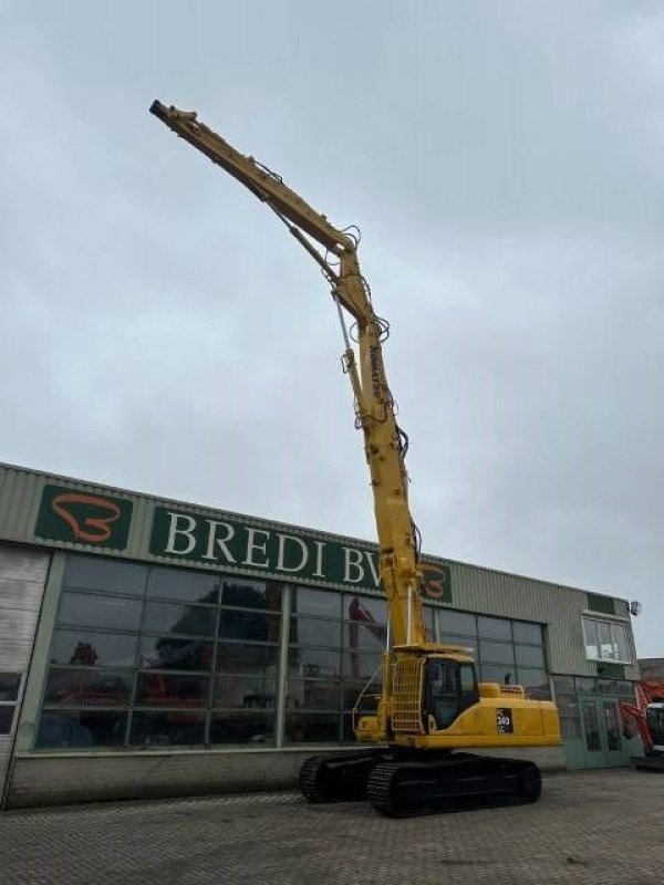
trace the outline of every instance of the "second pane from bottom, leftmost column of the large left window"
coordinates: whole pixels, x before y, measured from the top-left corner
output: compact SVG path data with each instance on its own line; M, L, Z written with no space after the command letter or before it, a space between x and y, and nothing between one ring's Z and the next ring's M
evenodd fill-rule
M53 707L124 707L132 697L132 674L123 670L51 667L44 704Z

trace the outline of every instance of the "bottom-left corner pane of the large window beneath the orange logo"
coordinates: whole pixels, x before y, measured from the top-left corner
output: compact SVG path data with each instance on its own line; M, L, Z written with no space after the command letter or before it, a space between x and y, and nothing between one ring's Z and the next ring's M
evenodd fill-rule
M120 710L44 710L39 722L37 749L122 747L127 716Z

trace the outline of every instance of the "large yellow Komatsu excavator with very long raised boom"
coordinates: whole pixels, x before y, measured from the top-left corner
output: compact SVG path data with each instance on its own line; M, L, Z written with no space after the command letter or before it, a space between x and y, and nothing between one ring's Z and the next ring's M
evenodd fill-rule
M478 681L468 648L436 644L426 633L421 535L408 506L408 439L396 420L383 360L390 325L375 313L360 269L359 230L333 227L196 112L158 101L151 112L274 212L321 268L339 312L342 366L371 476L388 635L377 704L361 712L361 695L353 712L356 740L366 746L307 759L299 774L303 795L310 802L369 799L386 816L537 801L541 773L533 762L486 751L559 745L556 706L527 698L520 686Z

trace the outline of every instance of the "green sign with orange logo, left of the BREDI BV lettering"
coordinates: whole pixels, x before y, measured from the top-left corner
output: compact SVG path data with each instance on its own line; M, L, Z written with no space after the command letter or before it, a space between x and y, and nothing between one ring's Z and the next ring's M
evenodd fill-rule
M34 534L50 541L124 550L132 522L132 501L85 492L66 486L45 486Z

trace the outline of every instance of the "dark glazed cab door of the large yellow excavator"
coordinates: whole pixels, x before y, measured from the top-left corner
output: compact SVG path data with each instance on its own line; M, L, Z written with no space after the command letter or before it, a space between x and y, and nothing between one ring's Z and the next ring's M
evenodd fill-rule
M425 709L434 718L436 730L449 728L460 712L478 700L477 677L471 663L445 657L428 658Z

